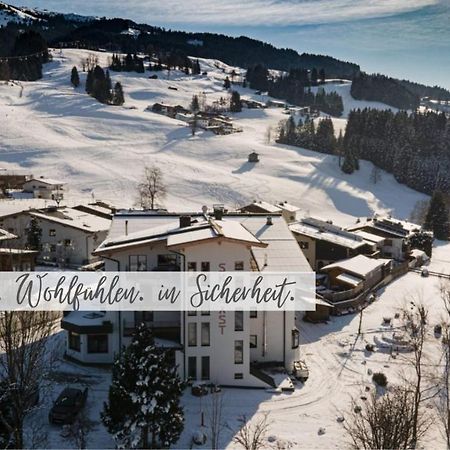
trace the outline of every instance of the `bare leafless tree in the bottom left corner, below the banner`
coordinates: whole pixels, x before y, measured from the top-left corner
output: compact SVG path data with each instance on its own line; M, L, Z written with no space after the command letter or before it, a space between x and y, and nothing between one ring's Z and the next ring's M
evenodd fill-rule
M0 421L15 448L24 446L24 420L50 365L47 339L58 318L52 311L0 313L0 381L9 406L8 414L0 410Z

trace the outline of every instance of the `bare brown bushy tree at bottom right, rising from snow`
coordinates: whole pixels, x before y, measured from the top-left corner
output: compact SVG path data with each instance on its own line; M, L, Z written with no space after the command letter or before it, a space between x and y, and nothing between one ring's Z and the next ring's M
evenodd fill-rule
M373 393L360 409L352 401L352 412L344 422L354 449L409 449L429 426L428 417L419 415L417 425L414 392L407 386L395 387L377 396Z

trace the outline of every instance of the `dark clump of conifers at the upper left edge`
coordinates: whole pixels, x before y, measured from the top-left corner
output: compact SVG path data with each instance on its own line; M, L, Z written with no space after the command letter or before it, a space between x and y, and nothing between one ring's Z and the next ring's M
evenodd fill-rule
M2 32L0 41L0 80L35 81L42 78L42 65L50 60L50 56L47 43L39 33L29 30L6 38Z

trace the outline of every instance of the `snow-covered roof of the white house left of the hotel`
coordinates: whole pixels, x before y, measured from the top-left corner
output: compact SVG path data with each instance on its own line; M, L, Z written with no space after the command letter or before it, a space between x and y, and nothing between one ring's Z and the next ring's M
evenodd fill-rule
M33 211L30 215L40 220L47 220L90 233L106 231L111 225L111 220L109 219L84 211L78 211L74 208Z

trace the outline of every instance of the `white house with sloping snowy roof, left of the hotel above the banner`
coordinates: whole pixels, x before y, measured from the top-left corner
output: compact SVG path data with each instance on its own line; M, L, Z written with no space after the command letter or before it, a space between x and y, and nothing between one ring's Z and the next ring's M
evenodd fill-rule
M109 218L74 208L47 208L32 211L42 230L42 250L38 260L63 267L80 267L98 260L92 255L106 238Z

